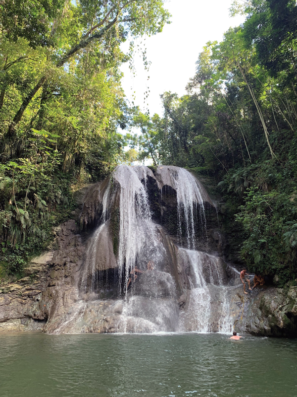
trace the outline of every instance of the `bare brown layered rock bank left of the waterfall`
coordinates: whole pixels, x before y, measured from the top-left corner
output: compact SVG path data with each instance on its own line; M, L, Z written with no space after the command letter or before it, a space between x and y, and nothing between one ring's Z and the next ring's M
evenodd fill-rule
M82 239L74 220L55 228L58 249L31 261L26 277L0 288L0 330L44 329L81 265Z

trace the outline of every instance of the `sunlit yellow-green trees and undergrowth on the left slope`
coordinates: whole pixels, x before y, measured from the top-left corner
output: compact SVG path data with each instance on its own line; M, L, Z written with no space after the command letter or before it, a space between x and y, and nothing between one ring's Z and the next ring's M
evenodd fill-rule
M67 218L75 186L121 161L120 44L168 18L163 0L0 2L0 279Z

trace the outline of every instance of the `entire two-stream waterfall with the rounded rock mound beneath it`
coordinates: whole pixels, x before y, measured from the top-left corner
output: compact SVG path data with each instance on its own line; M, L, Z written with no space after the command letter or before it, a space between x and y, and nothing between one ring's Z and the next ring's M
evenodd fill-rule
M207 241L205 203L214 208L197 178L174 166L120 165L85 202L84 224L98 226L77 297L52 332L231 331L223 261L195 249L198 239ZM178 239L165 229L166 217Z

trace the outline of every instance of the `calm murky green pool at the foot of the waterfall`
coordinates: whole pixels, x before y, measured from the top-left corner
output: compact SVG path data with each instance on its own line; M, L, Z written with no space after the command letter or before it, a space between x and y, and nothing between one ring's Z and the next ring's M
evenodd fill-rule
M0 335L1 397L296 397L297 340Z

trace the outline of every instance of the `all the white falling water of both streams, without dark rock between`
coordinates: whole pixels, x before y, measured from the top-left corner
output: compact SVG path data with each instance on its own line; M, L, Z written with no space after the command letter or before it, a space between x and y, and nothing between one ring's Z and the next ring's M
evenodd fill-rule
M192 274L184 325L179 325L181 315L177 305L176 278L173 278L173 267L169 269L173 266L175 254L168 253L168 246L165 249L162 227L151 220L148 177L154 179L153 184L160 193L164 186L165 190L169 187L176 192L180 239L182 241L182 235L185 236L184 243L188 247L179 248L178 252L188 261ZM92 292L93 288L88 295L89 301L93 299L90 305L96 306L99 302L96 297L99 292L95 291L95 286L98 289L100 285L97 278L101 270L114 268L119 286L119 294L114 301L118 304L114 307L121 308L115 312L118 313L114 323L116 330L209 332L214 330L215 323L218 327L216 331L227 331L232 320L221 260L194 250L198 227L202 229L202 237L207 239L204 202L211 202L199 181L179 167L160 166L152 172L148 167L122 165L115 169L108 183L101 186L102 224L87 249L81 279L82 292ZM149 271L147 264L151 260L155 265L154 270ZM167 268L165 260L167 263L169 261ZM135 268L142 273L136 273L137 281L132 278L128 288L131 270ZM113 304L109 306L112 308ZM215 308L219 311L219 318L213 321Z

